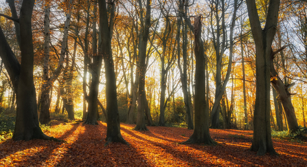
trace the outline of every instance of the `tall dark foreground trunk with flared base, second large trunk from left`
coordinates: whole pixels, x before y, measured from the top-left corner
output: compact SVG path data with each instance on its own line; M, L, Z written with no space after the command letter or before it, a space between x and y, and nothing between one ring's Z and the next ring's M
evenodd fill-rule
M128 144L120 134L120 115L117 107L116 78L112 56L112 32L115 16L115 1L108 0L106 6L105 0L99 0L99 17L100 17L100 53L98 54L98 65L101 67L102 58L104 59L104 69L106 72L106 111L107 111L107 128L106 144L110 142L122 142ZM97 73L100 71L97 71ZM99 78L99 76L98 76ZM99 82L98 82L99 83ZM98 90L97 90L98 91ZM97 102L96 102L97 105Z

